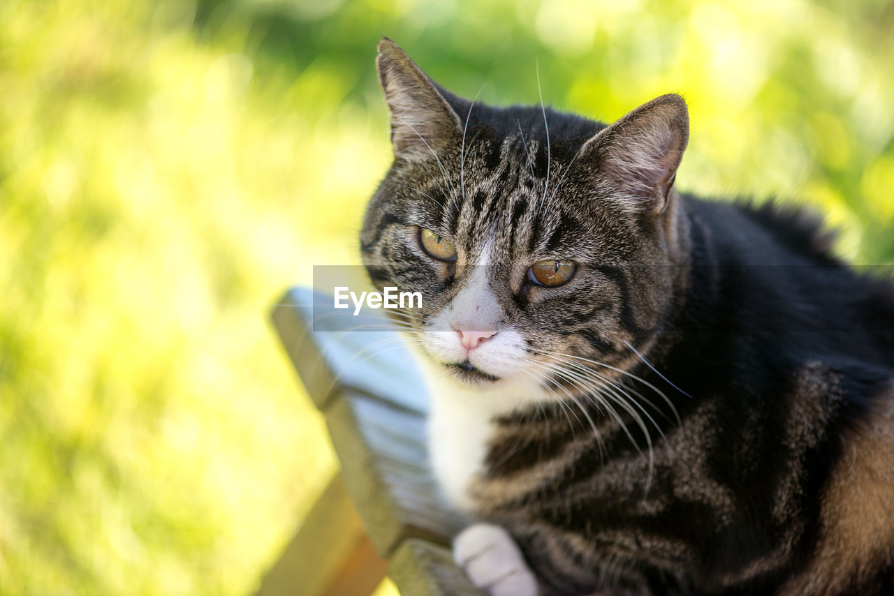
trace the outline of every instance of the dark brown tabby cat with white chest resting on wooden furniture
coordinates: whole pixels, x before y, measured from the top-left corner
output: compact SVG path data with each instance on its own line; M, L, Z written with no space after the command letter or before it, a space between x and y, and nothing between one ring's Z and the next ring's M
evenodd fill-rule
M611 125L456 97L383 38L360 236L432 379L493 595L894 593L894 288L803 211L678 192L677 95Z

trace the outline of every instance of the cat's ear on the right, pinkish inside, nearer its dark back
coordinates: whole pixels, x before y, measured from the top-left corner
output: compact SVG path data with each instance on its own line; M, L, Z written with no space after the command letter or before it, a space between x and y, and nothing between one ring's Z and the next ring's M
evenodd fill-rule
M600 131L581 147L599 181L638 209L659 213L689 140L689 113L678 95L656 97Z

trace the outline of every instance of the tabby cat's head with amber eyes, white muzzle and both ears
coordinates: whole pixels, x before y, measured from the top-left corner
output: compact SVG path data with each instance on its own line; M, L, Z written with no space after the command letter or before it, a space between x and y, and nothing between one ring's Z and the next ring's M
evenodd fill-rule
M658 97L611 126L493 108L429 80L383 39L394 163L361 246L374 283L418 291L397 320L460 383L562 390L626 370L674 298L687 107ZM588 381L584 381L587 379Z

